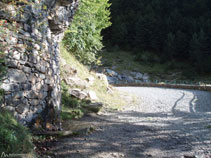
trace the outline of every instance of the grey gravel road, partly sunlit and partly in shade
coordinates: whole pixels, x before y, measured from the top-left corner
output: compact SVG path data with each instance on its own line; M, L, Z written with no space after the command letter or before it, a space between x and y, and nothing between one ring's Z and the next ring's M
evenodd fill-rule
M120 87L136 95L123 111L83 118L93 133L54 144L54 157L211 158L211 93Z

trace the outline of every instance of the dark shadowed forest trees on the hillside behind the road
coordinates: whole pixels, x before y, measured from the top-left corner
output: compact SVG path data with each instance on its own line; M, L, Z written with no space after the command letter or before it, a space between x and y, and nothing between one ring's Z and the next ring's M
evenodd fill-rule
M211 73L210 0L111 0L105 43L154 52L162 62L184 61Z

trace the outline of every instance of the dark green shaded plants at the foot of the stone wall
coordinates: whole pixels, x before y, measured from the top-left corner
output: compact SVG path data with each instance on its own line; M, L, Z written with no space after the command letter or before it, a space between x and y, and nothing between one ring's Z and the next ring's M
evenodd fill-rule
M33 150L32 137L8 111L0 109L0 153L29 153Z

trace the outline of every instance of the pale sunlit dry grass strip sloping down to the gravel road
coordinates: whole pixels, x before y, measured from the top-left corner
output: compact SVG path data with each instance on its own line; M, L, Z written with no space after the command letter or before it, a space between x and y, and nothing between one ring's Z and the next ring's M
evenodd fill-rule
M61 57L66 61L67 64L71 65L71 67L77 69L77 75L81 79L86 79L87 77L94 77L94 84L87 87L86 91L94 91L98 97L96 102L102 102L106 108L111 109L121 109L122 106L126 104L126 101L120 97L120 94L117 90L112 89L112 92L109 93L106 87L106 84L97 78L95 72L90 72L87 67L78 62L73 55L67 52L64 47L61 45ZM61 71L63 68L61 67ZM76 86L77 87L77 86ZM71 101L70 101L71 102ZM69 109L71 112L73 109ZM69 113L71 113L69 111ZM68 114L68 109L64 108L63 112ZM66 117L67 116L63 116ZM70 116L72 117L72 116Z

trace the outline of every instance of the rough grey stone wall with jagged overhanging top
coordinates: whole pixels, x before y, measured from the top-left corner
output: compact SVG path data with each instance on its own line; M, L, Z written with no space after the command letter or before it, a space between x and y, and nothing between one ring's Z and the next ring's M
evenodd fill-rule
M4 2L4 1L3 1ZM0 38L6 44L4 103L23 124L42 111L60 110L59 42L70 25L77 0L0 1L0 20L16 23ZM8 2L10 2L8 0Z

